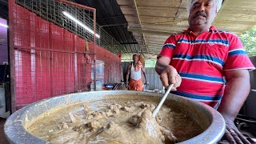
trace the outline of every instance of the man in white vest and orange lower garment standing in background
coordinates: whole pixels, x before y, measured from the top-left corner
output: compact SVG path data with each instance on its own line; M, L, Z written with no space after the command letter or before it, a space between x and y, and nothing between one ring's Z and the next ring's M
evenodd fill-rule
M146 81L146 72L142 66L142 63L138 61L138 55L133 55L133 62L130 63L130 65L127 68L127 74L126 74L126 87L128 87L128 90L137 90L142 91L142 74L144 75L145 81ZM128 85L128 79L130 76L130 82Z

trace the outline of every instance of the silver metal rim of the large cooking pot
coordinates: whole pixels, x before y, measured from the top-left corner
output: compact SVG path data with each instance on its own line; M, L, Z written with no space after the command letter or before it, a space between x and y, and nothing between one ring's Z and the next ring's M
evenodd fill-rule
M95 97L95 95L97 94L98 96ZM81 100L84 102L88 102L90 100L100 100L114 94L138 94L138 95L142 94L144 96L145 95L161 96L161 94L144 92L144 91L138 92L138 91L129 91L129 90L106 90L106 91L92 91L92 92L82 92L82 93L74 93L74 94L63 94L53 98L46 98L41 101L34 102L28 106L24 106L22 107L22 109L14 112L14 114L11 114L10 117L6 120L6 123L4 126L4 134L10 143L51 143L51 142L43 141L42 139L37 138L34 135L30 134L28 131L26 131L23 124L24 124L24 121L28 121L28 119L30 118L31 116L30 110L34 110L36 106L40 106L42 104L46 105L47 102L54 103L54 101L57 102L58 100L62 100L63 102L61 103L61 105L68 106L72 102L81 102ZM82 99L74 100L74 97L82 98ZM224 118L222 118L222 114L218 113L217 110L214 110L214 108L207 106L202 102L198 102L194 99L185 98L185 97L174 95L174 94L169 94L167 98L172 99L174 101L178 101L178 102L190 101L192 105L199 106L200 109L208 111L212 118L212 122L210 123L210 126L204 132L202 132L202 134L198 134L198 136L195 136L194 138L190 138L184 142L179 142L179 143L181 144L216 143L222 138L226 129L226 124L225 124ZM86 99L89 99L89 100L86 100ZM53 107L46 106L46 110L50 108L53 108ZM46 112L46 110L44 112Z

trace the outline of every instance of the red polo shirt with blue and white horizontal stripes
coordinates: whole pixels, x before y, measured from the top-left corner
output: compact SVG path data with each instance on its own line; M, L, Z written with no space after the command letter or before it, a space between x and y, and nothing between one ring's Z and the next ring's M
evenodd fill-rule
M181 86L172 92L217 106L225 88L225 70L254 70L242 42L228 31L209 30L196 36L185 30L167 38L158 57L171 59L182 77Z

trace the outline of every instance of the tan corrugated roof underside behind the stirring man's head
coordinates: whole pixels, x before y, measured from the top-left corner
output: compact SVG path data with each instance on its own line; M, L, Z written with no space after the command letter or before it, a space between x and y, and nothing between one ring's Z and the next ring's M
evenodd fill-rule
M158 54L170 34L188 27L187 0L117 0L142 50ZM226 0L213 25L242 34L256 22L255 0Z

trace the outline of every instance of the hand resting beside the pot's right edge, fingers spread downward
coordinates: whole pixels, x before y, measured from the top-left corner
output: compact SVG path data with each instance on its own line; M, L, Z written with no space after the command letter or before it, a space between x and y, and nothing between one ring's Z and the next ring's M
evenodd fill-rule
M222 138L222 141L227 141L229 143L244 143L250 144L250 142L239 132L238 128L234 126L234 122L231 119L225 118L226 130ZM223 143L223 142L218 142Z

